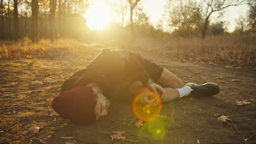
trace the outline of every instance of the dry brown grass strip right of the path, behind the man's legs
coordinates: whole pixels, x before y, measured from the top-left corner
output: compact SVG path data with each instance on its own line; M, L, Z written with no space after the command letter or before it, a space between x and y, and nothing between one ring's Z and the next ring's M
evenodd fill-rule
M223 64L253 64L256 61L256 35L222 35L200 38L137 39L127 45L167 58L193 59Z

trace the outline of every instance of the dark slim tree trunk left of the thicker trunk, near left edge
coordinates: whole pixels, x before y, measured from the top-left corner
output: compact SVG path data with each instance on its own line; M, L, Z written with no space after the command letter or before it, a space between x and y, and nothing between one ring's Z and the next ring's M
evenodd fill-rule
M14 26L14 38L18 39L20 37L20 29L19 29L19 13L18 13L18 0L14 0L14 13L13 13L13 26Z

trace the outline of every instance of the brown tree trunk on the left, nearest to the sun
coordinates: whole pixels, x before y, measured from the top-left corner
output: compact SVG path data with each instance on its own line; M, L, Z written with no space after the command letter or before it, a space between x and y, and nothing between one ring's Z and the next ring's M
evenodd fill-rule
M50 0L50 39L55 40L55 11L57 0Z

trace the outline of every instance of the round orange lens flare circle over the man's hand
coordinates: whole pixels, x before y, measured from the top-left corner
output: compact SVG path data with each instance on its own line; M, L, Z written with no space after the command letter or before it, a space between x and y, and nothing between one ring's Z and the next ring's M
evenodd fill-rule
M149 99L153 99L155 97L158 98L159 104L156 106L151 105L142 105L139 104L139 99L142 99L145 97L145 95L152 95ZM139 119L141 119L144 122L150 122L153 121L155 118L157 118L162 110L162 103L159 95L155 94L152 91L143 91L138 93L135 98L132 101L132 110L135 116Z

